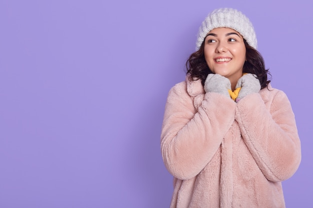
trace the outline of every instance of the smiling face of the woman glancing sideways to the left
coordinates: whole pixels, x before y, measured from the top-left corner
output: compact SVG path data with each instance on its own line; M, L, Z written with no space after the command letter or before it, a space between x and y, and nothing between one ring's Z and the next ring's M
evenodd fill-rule
M213 73L236 83L242 76L245 61L242 36L226 27L212 29L204 40L204 58Z

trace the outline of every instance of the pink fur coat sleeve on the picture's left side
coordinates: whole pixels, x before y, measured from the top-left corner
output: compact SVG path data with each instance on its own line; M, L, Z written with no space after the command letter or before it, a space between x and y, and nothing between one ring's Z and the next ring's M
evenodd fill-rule
M235 102L224 95L206 93L195 109L186 84L168 93L161 130L161 153L171 175L195 177L210 161L223 135L234 122Z

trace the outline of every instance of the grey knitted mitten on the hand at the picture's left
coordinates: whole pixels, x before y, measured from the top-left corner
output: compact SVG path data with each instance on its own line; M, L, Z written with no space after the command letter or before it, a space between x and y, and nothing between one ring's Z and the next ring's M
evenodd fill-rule
M228 78L219 74L208 74L204 82L205 92L216 92L230 98L228 89L231 89Z

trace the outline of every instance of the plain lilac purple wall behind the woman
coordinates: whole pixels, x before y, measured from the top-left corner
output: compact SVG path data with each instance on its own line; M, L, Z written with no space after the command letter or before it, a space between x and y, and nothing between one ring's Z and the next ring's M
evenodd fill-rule
M312 198L307 0L0 0L0 208L166 208L159 135L197 28L217 7L252 21L302 144L287 208Z

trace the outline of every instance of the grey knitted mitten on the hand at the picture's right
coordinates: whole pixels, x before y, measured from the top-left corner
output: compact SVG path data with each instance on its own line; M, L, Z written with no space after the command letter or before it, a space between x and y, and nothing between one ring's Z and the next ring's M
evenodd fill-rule
M241 76L236 84L236 88L241 87L236 102L251 93L258 93L261 89L259 80L254 74L246 74Z

